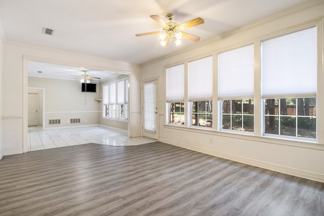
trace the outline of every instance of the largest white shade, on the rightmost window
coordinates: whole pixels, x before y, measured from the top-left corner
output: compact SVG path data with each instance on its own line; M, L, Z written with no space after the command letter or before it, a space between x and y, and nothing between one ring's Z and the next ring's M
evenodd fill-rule
M262 97L316 97L316 27L262 41Z

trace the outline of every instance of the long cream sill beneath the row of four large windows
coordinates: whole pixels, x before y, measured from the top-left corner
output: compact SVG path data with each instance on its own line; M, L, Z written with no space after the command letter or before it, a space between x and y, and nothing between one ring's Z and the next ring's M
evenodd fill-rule
M270 136L255 136L252 132L230 132L230 131L214 131L212 129L206 128L196 128L196 127L185 127L184 125L170 125L164 124L164 128L169 129L178 129L181 131L199 133L199 134L207 134L214 135L220 137L227 137L231 139L241 139L241 140L250 140L256 142L277 144L277 145L286 145L300 148L308 148L308 149L316 149L324 151L324 145L321 143L317 143L314 141L305 141L305 140L296 140L296 139L283 139L278 137L270 137Z

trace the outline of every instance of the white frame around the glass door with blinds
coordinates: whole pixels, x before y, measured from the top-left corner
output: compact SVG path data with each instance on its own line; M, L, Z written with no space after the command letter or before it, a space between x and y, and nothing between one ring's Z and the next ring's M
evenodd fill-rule
M155 121L155 137L151 138L154 140L159 140L159 109L158 109L158 94L157 94L157 88L158 88L158 78L152 78L152 79L147 79L147 80L142 80L141 81L141 137L143 137L143 131L144 131L144 83L146 82L155 82L155 106L156 106L156 121Z

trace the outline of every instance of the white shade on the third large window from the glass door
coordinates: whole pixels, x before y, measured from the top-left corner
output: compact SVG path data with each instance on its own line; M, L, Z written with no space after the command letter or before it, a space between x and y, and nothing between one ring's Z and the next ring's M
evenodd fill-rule
M218 99L254 97L254 45L218 55Z

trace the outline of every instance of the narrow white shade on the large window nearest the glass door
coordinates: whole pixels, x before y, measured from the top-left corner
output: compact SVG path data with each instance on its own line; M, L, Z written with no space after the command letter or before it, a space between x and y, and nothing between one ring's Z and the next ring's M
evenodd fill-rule
M184 102L184 64L167 68L167 103Z

